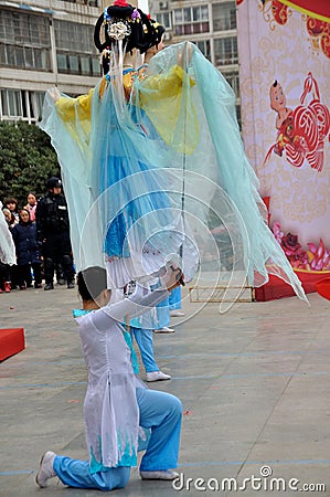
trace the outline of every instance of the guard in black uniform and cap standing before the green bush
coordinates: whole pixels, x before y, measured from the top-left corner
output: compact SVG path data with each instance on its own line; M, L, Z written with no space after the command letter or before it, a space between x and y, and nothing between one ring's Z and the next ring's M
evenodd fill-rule
M35 211L38 240L42 244L44 258L44 289L54 288L54 268L57 262L62 264L67 288L74 288L70 222L61 179L50 178L47 190L45 197L38 202Z

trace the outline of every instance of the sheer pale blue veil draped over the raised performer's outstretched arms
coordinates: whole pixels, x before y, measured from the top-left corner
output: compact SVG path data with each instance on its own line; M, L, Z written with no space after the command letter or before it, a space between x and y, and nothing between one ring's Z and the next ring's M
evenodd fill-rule
M181 43L152 57L129 95L123 77L94 88L91 113L74 99L70 123L49 96L44 106L77 267L109 260L120 286L177 254L189 278L199 268L215 284L225 271L230 284L239 274L239 284L260 286L275 274L305 299L267 226L235 96L221 73L195 45Z

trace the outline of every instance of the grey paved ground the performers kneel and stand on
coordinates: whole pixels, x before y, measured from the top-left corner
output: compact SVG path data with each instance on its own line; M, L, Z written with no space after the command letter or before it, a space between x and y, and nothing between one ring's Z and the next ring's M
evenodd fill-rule
M299 488L324 484L328 491L313 495L330 495L330 302L310 294L310 307L291 297L238 303L220 315L217 304L191 303L188 288L184 295L187 319L171 321L175 334L155 335L158 364L172 380L149 383L183 402L178 470L184 480L242 484L269 466L272 477L287 485L290 478ZM39 495L34 477L46 450L87 458L86 367L74 307L79 307L77 290L58 286L0 296L1 326L24 327L26 341L25 350L0 364L1 497ZM42 494L100 496L61 488L56 479ZM178 494L170 483L141 482L136 468L127 488L118 490L134 497ZM192 487L181 494L203 493ZM214 494L233 493L204 491ZM247 486L242 495L268 493Z

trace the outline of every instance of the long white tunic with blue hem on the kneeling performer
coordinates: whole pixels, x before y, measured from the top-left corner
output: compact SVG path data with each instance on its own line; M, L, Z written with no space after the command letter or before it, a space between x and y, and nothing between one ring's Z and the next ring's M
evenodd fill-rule
M134 373L120 321L146 313L168 295L167 289L146 293L138 286L128 298L76 318L88 368L84 417L92 473L137 464L136 388L143 383Z

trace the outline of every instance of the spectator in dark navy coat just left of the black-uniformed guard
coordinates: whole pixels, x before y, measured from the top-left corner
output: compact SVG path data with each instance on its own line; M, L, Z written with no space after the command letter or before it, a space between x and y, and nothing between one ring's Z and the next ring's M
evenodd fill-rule
M41 257L36 240L35 225L30 220L28 209L19 212L19 224L12 229L12 237L15 244L18 260L18 284L21 289L32 286L34 275L34 288L41 288Z

